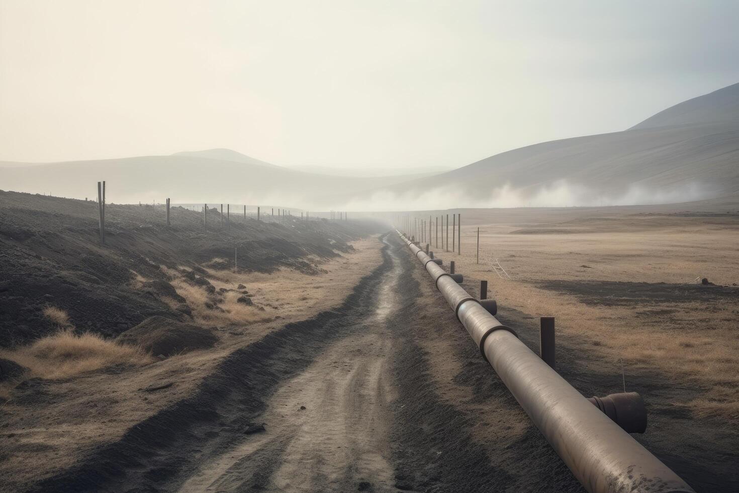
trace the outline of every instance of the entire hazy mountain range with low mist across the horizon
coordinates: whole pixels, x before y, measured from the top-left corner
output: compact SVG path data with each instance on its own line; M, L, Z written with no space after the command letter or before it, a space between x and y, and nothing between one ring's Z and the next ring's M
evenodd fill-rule
M230 149L65 163L0 163L0 189L112 202L281 204L351 211L677 203L739 196L739 84L624 132L539 143L433 176L351 177Z

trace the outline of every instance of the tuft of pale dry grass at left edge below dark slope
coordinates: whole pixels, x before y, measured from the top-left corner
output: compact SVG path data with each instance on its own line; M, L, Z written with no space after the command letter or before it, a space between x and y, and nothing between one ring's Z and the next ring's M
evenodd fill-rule
M147 364L151 356L138 347L108 341L93 333L75 334L72 329L60 330L51 336L0 356L27 367L35 376L58 379L99 370L115 364Z

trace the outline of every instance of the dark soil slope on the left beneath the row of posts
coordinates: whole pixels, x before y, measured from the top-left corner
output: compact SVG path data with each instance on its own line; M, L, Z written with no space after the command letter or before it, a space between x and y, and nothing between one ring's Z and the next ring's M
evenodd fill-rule
M329 222L288 217L280 222L163 206L106 205L106 246L98 239L98 206L92 201L0 191L0 347L23 343L55 330L44 306L66 310L80 330L117 336L149 316L187 322L186 304L171 308L177 295L160 266L199 271L202 262L226 259L219 268L269 272L290 267L307 273L308 256L329 258L351 248L347 241L378 231L368 222ZM153 279L132 289L134 272ZM174 294L173 294L174 293ZM184 301L184 300L180 300Z

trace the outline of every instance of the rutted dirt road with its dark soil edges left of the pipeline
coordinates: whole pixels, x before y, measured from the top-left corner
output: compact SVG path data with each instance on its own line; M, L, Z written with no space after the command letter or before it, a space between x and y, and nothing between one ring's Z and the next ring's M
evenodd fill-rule
M406 247L383 241L382 264L336 310L236 351L196 394L37 490L582 492ZM503 316L530 342L533 317ZM562 342L565 378L618 391L616 372L580 375L587 354ZM670 433L655 433L682 473ZM684 476L732 491L735 459L717 449Z

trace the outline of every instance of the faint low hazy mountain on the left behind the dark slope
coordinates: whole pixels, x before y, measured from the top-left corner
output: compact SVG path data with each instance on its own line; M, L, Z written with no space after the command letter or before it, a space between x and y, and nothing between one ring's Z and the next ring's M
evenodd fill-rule
M275 166L229 149L63 163L0 163L0 189L95 197L106 180L115 203L239 203L323 210L339 208L337 191L360 194L409 180L405 176L341 177Z

